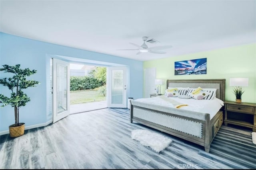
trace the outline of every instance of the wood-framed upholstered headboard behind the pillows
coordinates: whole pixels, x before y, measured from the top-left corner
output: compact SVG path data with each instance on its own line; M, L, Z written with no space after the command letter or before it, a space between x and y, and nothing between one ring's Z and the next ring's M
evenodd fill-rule
M202 79L202 80L167 80L168 87L190 87L190 88L216 88L216 98L225 101L226 79Z

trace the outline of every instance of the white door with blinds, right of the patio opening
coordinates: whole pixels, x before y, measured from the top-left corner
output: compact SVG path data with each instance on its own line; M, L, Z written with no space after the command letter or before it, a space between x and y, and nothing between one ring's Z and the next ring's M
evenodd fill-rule
M125 67L108 67L108 90L107 103L108 107L126 108L126 68Z

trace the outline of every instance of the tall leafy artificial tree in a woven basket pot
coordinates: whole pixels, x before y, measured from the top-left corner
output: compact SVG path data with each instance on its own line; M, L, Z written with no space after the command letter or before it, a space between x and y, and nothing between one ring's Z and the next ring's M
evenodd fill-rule
M9 126L9 132L10 137L19 137L24 134L25 129L25 123L19 122L19 109L22 106L26 106L27 102L30 101L30 98L22 90L39 84L35 80L26 80L26 77L35 74L36 70L30 70L29 68L21 69L20 64L14 66L5 64L3 68L0 68L0 71L14 74L10 78L0 79L0 84L7 86L11 90L10 97L0 94L0 101L2 103L1 107L7 105L14 107L15 123Z

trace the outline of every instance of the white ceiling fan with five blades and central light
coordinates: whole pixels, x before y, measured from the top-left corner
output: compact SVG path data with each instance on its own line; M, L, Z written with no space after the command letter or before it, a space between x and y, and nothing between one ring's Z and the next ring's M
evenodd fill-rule
M171 45L164 45L164 46L156 46L156 47L149 47L148 45L146 45L145 41L148 39L148 37L142 37L143 40L143 44L142 45L137 45L134 43L130 43L131 45L134 45L136 47L138 47L138 49L118 49L118 50L139 50L137 55L139 55L140 53L144 53L144 52L149 52L149 53L155 53L155 54L165 54L166 52L164 51L159 51L159 50L163 50L163 49L168 49L171 48Z

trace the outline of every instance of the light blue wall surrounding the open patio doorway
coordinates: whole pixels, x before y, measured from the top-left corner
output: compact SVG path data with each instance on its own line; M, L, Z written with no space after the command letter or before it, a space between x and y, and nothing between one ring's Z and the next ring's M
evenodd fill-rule
M32 39L26 39L14 35L0 32L0 65L3 64L21 64L21 68L30 68L37 70L37 73L30 76L29 79L40 81L37 87L30 87L25 93L31 101L20 108L20 122L26 123L26 126L44 124L51 119L47 113L47 97L50 56L59 55L74 57L79 59L88 59L108 63L124 64L130 68L128 73L130 89L127 91L127 97L142 98L143 96L143 62L102 53L95 53L51 43L44 43ZM6 77L6 74L0 73L0 78ZM10 90L0 86L0 93L10 95ZM5 106L0 108L0 133L7 131L9 125L14 123L14 108Z

